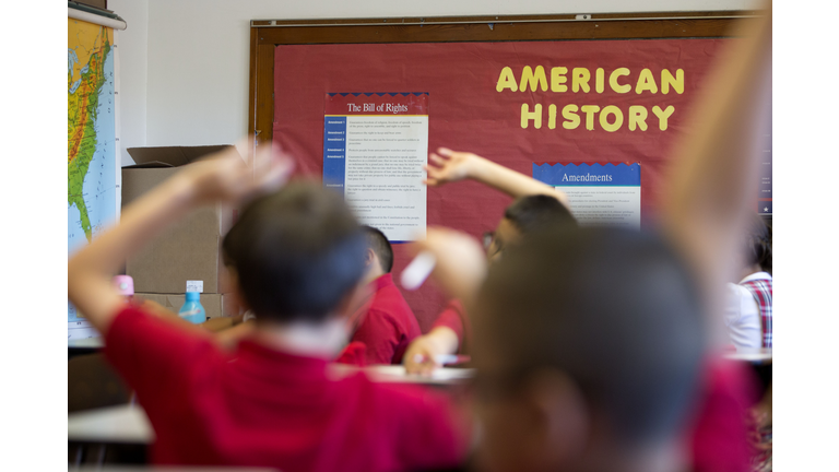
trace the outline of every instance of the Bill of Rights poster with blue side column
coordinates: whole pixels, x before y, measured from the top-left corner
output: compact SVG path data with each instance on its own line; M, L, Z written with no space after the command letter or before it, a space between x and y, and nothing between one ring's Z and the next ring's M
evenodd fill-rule
M428 94L328 94L323 185L390 241L425 238Z

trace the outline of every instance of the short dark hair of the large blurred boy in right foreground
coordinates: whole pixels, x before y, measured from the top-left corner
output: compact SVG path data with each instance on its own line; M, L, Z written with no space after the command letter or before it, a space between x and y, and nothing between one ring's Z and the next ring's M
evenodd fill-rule
M491 267L475 311L478 369L492 352L513 385L539 368L566 373L625 444L684 426L702 310L692 274L660 238L607 227L525 235Z

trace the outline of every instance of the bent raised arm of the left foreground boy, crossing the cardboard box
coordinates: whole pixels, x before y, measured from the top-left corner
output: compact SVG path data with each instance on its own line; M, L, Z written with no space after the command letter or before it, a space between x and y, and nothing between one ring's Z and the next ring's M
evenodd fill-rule
M291 173L292 162L272 158L269 152L260 154L257 165L250 166L236 151L223 151L190 164L129 205L119 224L68 261L70 302L106 335L122 304L110 279L126 258L191 210L220 201L237 202L280 188Z

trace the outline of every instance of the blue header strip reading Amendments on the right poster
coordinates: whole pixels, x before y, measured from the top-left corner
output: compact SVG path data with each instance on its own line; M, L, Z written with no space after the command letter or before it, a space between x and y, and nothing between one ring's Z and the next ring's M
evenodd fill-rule
M607 164L533 164L533 178L550 186L569 187L639 187L641 165Z

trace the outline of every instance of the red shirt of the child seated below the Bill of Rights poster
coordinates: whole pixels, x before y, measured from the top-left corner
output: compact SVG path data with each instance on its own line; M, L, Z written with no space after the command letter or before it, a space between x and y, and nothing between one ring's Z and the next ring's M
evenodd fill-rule
M370 285L375 292L373 303L351 341L367 346L365 362L368 365L401 364L407 345L422 334L420 323L390 273Z

